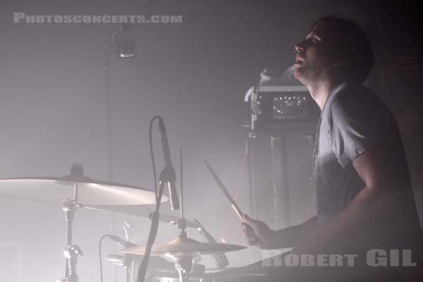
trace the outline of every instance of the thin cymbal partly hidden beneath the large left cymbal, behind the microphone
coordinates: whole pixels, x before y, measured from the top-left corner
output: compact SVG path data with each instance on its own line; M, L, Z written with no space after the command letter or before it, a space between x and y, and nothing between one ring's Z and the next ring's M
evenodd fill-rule
M85 209L95 209L97 211L103 212L116 212L117 214L129 214L131 216L138 216L138 217L145 217L149 218L149 215L152 214L153 210L149 207L145 207L143 205L133 205L133 204L125 204L125 205L118 205L118 204L87 204L84 206ZM160 221L166 223L176 223L180 219L179 216L173 216L172 214L165 214L160 213ZM187 227L191 228L200 228L201 226L195 221L190 219L185 219L187 222Z

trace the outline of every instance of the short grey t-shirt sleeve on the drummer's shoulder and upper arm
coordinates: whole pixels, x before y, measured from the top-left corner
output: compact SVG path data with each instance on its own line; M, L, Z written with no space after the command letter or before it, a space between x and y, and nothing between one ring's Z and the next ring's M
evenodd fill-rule
M371 104L354 99L333 100L329 109L331 147L342 167L381 143L381 127Z

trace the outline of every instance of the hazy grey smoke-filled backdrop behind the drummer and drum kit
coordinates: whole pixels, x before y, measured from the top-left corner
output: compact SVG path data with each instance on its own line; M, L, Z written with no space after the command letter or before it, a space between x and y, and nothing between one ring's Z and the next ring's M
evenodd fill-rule
M114 180L152 189L148 124L160 114L175 164L178 148L185 152L186 215L200 219L216 238L245 245L238 219L202 161L214 165L231 192L240 182L238 201L248 212L245 171L240 176L247 138L241 125L248 119L243 96L257 84L263 68L292 65L293 46L314 19L343 13L357 20L372 40L376 66L366 84L397 116L421 207L421 11L419 1L2 1L0 177L63 176L80 162L88 176L108 178L102 44L119 25L13 23L13 12L182 15L183 23L135 24L131 36L140 54L111 67ZM161 169L157 130L154 140ZM295 155L290 158L295 163ZM271 171L269 160L257 166ZM267 181L259 187L257 201L263 208L258 216L271 224ZM300 196L293 199L302 210L295 222L314 212L307 202L312 190ZM169 211L167 204L164 209ZM128 219L134 218L117 216L118 235ZM78 264L81 281L99 280L97 243L113 230L109 220L106 213L77 212L75 243L85 251ZM137 240L143 244L149 221L138 225ZM0 280L44 282L63 276L61 204L1 198L0 226ZM161 225L157 242L177 234L176 228ZM252 252L230 254L231 265L252 262ZM107 272L106 281L113 281L111 269ZM118 277L123 281L121 272Z

